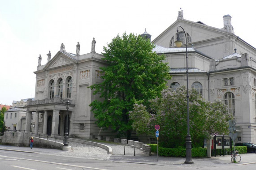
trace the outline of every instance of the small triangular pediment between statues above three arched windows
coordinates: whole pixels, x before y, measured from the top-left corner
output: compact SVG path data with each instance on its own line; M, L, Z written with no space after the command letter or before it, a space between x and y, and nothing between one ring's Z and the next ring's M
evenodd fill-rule
M65 65L69 65L77 62L76 59L69 56L70 54L68 55L65 53L58 51L57 54L50 60L50 62L46 64L44 69L61 67L61 66L65 66Z

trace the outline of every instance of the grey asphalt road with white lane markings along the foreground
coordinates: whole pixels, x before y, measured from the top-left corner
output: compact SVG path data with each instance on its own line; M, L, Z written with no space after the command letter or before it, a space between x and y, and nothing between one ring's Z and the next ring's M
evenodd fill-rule
M253 155L254 156L254 155ZM0 170L254 170L256 164L158 165L0 150Z

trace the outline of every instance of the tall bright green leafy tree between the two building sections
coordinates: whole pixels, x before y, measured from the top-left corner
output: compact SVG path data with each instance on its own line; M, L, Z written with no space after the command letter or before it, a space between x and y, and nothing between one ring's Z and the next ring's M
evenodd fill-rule
M169 67L163 63L165 55L152 52L153 47L149 40L126 33L104 47L103 60L108 64L101 68L104 81L90 86L94 94L100 93L101 100L90 104L98 126L110 127L129 139L133 105L138 102L147 106L149 99L160 96L166 88Z

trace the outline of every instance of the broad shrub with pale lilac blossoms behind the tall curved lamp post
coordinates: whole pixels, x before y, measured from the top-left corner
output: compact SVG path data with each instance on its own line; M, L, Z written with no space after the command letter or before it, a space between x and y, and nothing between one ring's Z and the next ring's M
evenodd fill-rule
M143 105L134 105L130 112L132 127L138 133L154 135L154 125L161 126L159 140L165 147L185 146L187 135L187 90L184 86L176 92L171 89L162 91L161 98L151 100L150 111ZM208 102L195 90L189 90L190 134L192 145L202 146L204 138L210 135L228 134L228 121L232 114L228 113L226 105L221 101ZM151 112L151 114L150 114ZM139 115L149 115L147 123L136 119ZM142 128L143 127L143 128ZM138 130L139 128L143 130Z

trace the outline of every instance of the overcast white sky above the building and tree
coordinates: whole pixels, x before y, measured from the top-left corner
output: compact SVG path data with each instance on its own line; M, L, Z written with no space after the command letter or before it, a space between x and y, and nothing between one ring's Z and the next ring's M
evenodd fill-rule
M0 0L0 104L35 96L39 54L47 63L64 43L68 52L103 52L117 34L147 32L152 40L177 20L223 28L232 17L234 33L256 47L256 3L252 0Z

